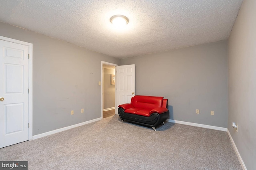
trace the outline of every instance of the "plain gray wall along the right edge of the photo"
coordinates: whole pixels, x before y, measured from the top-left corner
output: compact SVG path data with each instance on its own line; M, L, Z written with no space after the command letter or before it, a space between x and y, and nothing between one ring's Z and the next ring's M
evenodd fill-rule
M244 0L228 39L228 130L248 170L256 169L255 7L255 0Z

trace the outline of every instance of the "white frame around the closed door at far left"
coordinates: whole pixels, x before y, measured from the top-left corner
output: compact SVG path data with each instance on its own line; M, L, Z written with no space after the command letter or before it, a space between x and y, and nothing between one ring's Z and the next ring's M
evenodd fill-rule
M0 40L4 40L6 42L18 43L22 45L28 46L29 60L28 60L28 140L32 140L33 137L33 44L28 42L22 42L20 40L14 40L12 38L7 38L0 36Z

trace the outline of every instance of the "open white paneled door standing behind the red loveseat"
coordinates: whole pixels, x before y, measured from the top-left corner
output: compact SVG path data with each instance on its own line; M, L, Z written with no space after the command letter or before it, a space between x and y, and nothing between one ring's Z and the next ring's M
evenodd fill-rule
M116 66L116 115L118 106L130 103L135 95L135 65Z

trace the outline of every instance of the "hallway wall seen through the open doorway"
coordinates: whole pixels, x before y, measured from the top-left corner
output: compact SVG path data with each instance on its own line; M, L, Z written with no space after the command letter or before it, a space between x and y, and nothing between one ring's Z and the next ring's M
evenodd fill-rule
M115 75L115 70L113 69L103 69L103 96L104 96L104 109L110 107L115 107L115 85L110 84L111 74Z

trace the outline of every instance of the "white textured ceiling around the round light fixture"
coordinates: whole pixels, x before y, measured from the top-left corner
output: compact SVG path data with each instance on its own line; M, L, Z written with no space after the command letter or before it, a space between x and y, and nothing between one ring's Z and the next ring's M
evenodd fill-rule
M0 21L124 58L226 40L242 0L0 0ZM111 16L129 18L123 30Z

